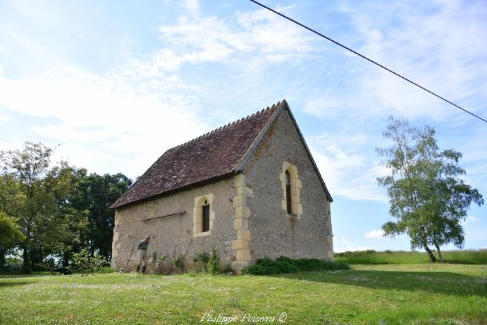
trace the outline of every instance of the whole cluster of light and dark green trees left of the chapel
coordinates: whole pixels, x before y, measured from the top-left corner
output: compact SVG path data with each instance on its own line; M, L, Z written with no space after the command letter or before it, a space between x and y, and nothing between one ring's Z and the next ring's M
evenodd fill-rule
M54 163L53 152L30 142L22 150L0 151L0 212L8 215L1 220L19 225L15 245L24 270L48 256L66 266L83 248L109 259L115 216L109 205L131 185L121 173L88 175L65 161ZM6 252L0 251L1 258Z

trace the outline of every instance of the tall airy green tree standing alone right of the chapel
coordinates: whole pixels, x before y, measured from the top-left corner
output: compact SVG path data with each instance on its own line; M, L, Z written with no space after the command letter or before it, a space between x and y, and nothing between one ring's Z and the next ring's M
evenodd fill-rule
M435 130L410 126L408 120L390 118L383 132L392 141L390 148L378 148L388 159L390 175L379 177L387 189L390 215L396 221L382 226L386 236L408 234L411 248L424 248L432 262L433 245L442 260L440 246L453 243L461 248L465 241L461 221L472 203L484 204L477 189L465 184L465 169L458 167L462 154L440 151Z

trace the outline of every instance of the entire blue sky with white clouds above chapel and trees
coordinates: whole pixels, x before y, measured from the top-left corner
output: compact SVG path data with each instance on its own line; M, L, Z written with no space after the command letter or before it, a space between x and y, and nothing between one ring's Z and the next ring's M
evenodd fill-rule
M264 3L487 118L484 1ZM335 200L335 251L409 249L379 231L390 115L435 127L487 196L486 123L250 1L0 0L0 150L60 144L56 159L136 177L282 98ZM487 247L487 207L465 235Z

